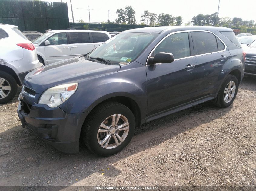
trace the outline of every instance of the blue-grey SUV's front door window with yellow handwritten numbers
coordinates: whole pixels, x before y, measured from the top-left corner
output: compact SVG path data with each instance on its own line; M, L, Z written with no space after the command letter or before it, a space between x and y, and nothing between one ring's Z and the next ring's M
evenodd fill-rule
M154 50L150 57L157 53L171 53L174 59L185 58L190 56L188 33L175 33L163 40Z

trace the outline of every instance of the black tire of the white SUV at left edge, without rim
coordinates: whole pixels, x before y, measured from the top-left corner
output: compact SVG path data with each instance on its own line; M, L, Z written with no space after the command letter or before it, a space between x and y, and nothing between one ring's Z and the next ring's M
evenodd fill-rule
M5 80L7 80L11 86L11 91L9 95L3 99L0 99L0 104L5 104L8 103L16 95L18 87L15 78L13 78L12 75L8 74L7 72L0 71L0 78L4 78Z

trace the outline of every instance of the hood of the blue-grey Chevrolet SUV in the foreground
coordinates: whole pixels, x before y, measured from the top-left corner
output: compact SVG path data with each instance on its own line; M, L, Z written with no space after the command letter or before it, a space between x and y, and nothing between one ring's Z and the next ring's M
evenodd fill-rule
M53 86L72 82L79 83L86 78L106 75L119 70L119 65L106 65L77 57L33 70L26 75L24 84L35 90L36 93L42 93Z

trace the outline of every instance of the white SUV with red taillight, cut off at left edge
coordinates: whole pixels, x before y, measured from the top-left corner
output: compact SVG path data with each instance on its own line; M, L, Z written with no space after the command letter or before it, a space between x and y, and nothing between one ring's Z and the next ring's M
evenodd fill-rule
M41 66L35 46L18 27L0 24L0 104L8 103L25 75Z

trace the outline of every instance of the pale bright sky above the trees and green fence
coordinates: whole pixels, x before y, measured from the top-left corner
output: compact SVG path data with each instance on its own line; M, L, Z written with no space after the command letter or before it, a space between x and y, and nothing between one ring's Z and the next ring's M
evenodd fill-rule
M42 0L41 0L42 1ZM70 0L52 0L52 2L67 2L69 21L72 22ZM141 23L141 14L144 10L155 14L171 14L181 16L184 25L191 21L197 14L212 14L218 11L219 0L71 0L75 22L83 19L89 22L88 6L90 6L91 23L100 23L108 20L108 10L110 11L110 21L115 21L119 8L130 5L135 10L137 23ZM249 5L249 6L248 6ZM256 0L220 0L219 17L240 17L243 20L254 20L256 22ZM247 9L252 7L253 9Z

